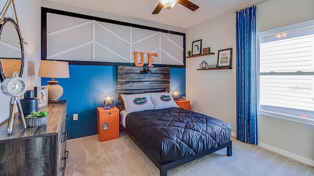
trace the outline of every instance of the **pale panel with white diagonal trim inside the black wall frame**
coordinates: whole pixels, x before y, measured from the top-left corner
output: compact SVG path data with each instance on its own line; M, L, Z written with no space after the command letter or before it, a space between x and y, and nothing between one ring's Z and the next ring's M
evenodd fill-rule
M134 51L157 53L155 64L183 66L183 36L47 14L47 59L134 63ZM138 60L141 56L139 54Z

